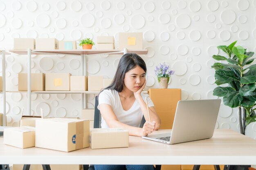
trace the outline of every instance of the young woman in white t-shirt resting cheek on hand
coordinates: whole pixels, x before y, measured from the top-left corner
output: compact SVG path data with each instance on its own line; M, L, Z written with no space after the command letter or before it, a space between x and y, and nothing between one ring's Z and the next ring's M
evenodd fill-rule
M146 85L146 64L137 54L124 54L112 83L99 94L101 128L122 127L129 135L147 136L160 127L152 100L141 93ZM148 100L149 121L145 98ZM142 117L146 122L139 128ZM94 165L95 170L153 170L153 165Z

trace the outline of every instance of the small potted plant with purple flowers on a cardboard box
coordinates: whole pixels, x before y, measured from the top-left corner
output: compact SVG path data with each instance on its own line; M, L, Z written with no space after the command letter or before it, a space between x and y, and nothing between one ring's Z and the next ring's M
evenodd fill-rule
M159 88L166 89L170 77L174 74L174 70L171 69L170 65L167 63L160 63L155 67L155 75L159 82Z

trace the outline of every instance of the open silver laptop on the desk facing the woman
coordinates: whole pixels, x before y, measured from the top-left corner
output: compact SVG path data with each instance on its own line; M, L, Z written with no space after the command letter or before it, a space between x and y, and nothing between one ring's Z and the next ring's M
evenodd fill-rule
M143 138L165 144L211 138L216 126L220 102L220 99L180 100L177 103L171 132L150 134Z

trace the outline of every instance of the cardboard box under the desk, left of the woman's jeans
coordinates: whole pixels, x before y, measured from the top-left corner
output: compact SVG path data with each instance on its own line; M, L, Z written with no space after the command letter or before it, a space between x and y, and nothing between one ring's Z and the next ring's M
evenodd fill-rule
M13 170L23 170L22 164L13 165ZM82 165L50 165L51 170L81 170ZM42 165L31 164L29 170L43 170Z

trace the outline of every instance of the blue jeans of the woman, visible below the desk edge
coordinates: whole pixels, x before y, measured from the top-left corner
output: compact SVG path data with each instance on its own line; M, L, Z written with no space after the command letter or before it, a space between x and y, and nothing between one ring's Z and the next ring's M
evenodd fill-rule
M154 170L153 165L94 165L94 170Z

